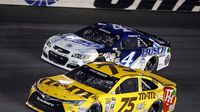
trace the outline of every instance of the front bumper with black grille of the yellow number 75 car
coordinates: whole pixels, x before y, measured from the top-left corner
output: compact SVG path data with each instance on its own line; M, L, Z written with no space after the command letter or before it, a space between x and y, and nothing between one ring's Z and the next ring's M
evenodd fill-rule
M63 100L46 96L32 86L26 105L37 112L87 112L82 106L65 103ZM48 96L48 95L47 95Z

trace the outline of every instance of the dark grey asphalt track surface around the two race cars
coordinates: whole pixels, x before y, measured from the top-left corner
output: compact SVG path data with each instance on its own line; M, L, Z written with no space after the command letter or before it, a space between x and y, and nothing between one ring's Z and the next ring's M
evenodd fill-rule
M177 83L175 112L200 109L200 14L0 6L0 111L32 112L25 106L31 85L65 70L40 59L45 40L85 25L109 21L172 43L170 66L158 72Z

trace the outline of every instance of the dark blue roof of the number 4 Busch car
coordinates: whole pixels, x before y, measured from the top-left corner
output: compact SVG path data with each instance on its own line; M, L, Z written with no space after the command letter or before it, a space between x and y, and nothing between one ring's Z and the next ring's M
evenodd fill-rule
M140 37L141 35L145 35L132 28L122 26L119 24L114 24L114 23L99 22L99 23L95 23L94 26L96 28L103 29L107 32L111 32L115 35L119 35L120 37ZM146 37L145 35L145 38L148 38L148 37Z

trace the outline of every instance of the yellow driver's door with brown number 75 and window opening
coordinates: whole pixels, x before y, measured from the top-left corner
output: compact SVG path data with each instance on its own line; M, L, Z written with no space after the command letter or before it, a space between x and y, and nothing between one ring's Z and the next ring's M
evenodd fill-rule
M134 112L138 100L138 78L125 79L112 95L115 106L111 112Z

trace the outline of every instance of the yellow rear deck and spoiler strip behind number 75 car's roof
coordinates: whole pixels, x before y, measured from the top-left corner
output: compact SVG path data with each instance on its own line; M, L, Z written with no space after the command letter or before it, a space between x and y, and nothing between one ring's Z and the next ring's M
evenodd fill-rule
M135 71L138 72L138 73L141 73L141 75L143 75L143 76L148 76L148 77L151 77L151 78L159 81L164 86L176 87L176 83L174 83L174 82L170 81L169 79L164 78L162 76L159 76L159 75L156 75L156 74L153 74L153 73L150 73L150 72L146 72L146 71L143 71L143 70L139 70L139 69L135 69Z

